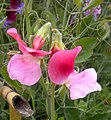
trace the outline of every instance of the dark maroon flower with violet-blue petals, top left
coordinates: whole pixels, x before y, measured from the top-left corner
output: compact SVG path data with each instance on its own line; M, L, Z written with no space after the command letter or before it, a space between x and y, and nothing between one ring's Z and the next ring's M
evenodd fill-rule
M10 0L10 7L6 11L7 19L3 25L3 28L6 28L11 23L15 22L16 14L22 14L22 9L24 7L24 3L21 0Z

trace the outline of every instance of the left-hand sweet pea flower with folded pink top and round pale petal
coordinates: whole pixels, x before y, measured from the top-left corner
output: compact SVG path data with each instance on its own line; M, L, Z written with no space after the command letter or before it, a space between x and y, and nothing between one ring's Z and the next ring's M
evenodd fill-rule
M40 50L44 40L36 35L33 48L29 48L21 39L15 28L10 28L7 33L18 42L19 49L23 54L15 54L8 63L7 71L12 80L18 80L21 84L31 86L38 82L41 77L40 59L50 54Z

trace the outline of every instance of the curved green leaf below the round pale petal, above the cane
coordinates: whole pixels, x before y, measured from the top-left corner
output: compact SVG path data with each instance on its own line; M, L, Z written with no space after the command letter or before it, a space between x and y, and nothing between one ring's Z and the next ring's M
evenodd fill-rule
M1 75L4 78L4 82L6 82L8 85L10 85L10 86L12 86L12 87L14 87L16 89L19 89L19 90L22 89L22 85L18 81L11 80L9 78L6 66L2 67L2 69L1 69Z

